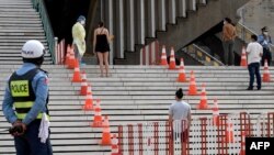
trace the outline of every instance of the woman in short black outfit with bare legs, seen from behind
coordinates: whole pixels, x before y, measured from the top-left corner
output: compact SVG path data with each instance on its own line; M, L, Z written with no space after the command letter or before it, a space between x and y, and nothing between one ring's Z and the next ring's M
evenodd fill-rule
M110 34L109 30L104 27L104 23L100 22L98 29L94 31L93 53L98 55L101 76L103 77L103 67L105 65L105 76L109 77L109 53L110 53Z

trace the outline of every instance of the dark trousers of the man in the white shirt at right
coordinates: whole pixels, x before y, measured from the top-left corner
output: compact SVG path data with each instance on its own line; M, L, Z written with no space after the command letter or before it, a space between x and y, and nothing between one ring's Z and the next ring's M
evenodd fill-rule
M256 77L256 88L261 89L261 74L260 74L260 63L251 63L249 64L249 88L253 89L254 76Z

